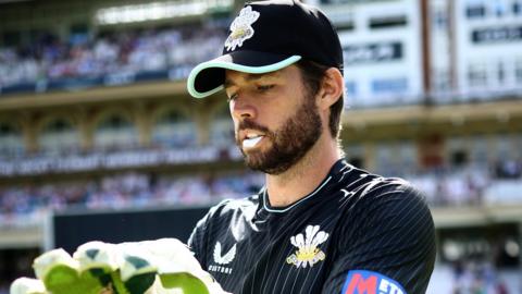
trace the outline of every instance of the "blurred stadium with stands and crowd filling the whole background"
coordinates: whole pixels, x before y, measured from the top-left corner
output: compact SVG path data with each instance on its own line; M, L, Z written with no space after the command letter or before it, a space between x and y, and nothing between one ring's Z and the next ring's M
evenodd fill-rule
M430 201L428 293L520 293L521 1L308 2L345 50L347 159ZM210 205L262 185L234 146L223 95L196 100L185 87L241 5L0 1L1 294L42 250L183 240Z

